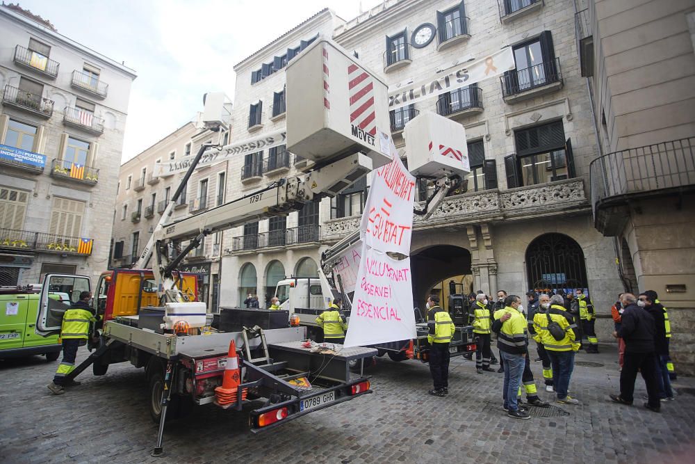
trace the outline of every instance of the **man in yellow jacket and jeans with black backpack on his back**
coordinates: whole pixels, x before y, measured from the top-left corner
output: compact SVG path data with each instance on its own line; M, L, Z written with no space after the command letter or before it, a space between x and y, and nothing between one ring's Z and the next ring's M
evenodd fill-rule
M568 391L574 370L574 355L580 344L575 333L577 324L563 304L562 296L551 296L550 308L545 313L536 314L534 323L553 368L553 385L557 402L576 405L579 401L570 397Z

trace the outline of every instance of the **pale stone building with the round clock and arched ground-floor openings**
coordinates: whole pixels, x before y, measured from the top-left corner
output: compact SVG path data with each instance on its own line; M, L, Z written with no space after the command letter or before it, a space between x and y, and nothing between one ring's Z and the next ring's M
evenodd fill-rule
M505 289L523 295L529 289L582 287L602 316L599 338L608 341L610 305L623 285L612 240L594 229L591 216L589 163L598 147L587 83L580 74L573 2L386 1L349 22L322 12L235 67L234 140L246 138L240 132L247 127L256 129L246 123L255 117L252 104L259 100L263 115L258 129L272 131L282 125L266 113L267 102L283 89L282 73L258 82L253 73L263 74L268 70L264 63L277 57L282 62L293 42L320 29L317 25L310 33L307 28L321 17L334 25L325 36L359 56L389 85L436 76L507 45L514 48L516 71L391 113L391 133L401 152L404 124L420 111L432 111L464 126L475 158L475 170L457 194L430 220L415 219L414 298L424 306L432 287L455 276L472 282L465 291L487 293ZM260 156L268 157L267 150ZM244 169L254 160L238 163ZM252 167L246 169L252 174ZM230 183L234 177L230 175ZM259 180L253 184L244 179L240 192L267 184L270 176L261 171L250 177ZM420 187L424 198L427 187ZM272 239L278 232L270 230L268 221L261 221L258 229L235 230L231 243L225 243L229 253L222 257L223 280L229 282L222 305L240 304L249 288L259 296L268 294L279 274L276 262L284 275L300 273L297 266L305 257L318 262L325 247L357 227L367 190L366 183L357 184L335 200L323 200L317 239L305 232L304 241L293 242L290 231L301 227L301 211L287 219L285 246ZM304 214L302 225L311 214Z

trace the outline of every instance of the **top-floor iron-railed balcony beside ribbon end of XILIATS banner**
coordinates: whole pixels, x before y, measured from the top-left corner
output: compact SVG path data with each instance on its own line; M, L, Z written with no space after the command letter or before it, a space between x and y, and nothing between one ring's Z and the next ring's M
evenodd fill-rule
M559 58L523 70L507 71L500 77L500 84L502 97L507 103L521 102L555 92L562 88Z

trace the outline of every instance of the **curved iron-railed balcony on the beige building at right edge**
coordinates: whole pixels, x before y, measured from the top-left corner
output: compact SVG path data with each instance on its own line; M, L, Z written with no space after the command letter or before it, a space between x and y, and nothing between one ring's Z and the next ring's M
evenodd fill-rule
M619 235L640 199L695 191L695 137L629 148L589 165L594 226Z

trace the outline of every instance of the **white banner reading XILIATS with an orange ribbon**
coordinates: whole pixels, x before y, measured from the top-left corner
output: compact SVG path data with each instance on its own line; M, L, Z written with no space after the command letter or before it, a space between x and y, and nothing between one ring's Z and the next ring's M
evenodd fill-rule
M389 110L470 86L472 83L497 77L515 68L512 47L505 47L490 56L450 67L427 79L389 87Z

